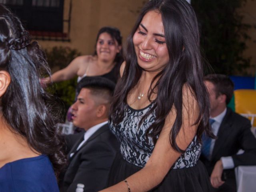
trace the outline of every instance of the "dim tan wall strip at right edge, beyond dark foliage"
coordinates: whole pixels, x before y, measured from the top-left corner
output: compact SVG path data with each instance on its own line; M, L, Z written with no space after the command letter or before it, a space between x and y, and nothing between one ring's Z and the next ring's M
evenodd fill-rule
M256 1L248 0L242 8L244 15L244 23L256 26ZM248 69L248 74L255 76L256 72L256 28L251 28L248 35L252 38L246 42L248 48L244 52L244 56L251 57L251 67Z

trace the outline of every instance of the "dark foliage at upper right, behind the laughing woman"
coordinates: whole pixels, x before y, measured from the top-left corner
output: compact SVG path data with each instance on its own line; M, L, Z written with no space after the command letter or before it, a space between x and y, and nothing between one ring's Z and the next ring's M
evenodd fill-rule
M243 56L247 31L251 26L242 22L238 11L246 0L192 0L198 16L204 57L214 72L245 74L250 58Z

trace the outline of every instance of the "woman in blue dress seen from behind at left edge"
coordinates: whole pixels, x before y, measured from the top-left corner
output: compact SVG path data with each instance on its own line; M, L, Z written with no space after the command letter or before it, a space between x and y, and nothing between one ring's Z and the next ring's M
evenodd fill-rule
M56 104L40 85L48 65L20 20L0 5L0 191L58 192L66 163ZM54 113L54 115L53 115Z

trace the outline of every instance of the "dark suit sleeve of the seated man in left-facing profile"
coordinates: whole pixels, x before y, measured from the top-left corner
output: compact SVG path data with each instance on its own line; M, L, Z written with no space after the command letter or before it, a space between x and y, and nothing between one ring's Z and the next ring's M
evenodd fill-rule
M67 191L74 192L78 183L84 184L84 192L104 189L115 151L106 142L96 142L81 155L80 166Z

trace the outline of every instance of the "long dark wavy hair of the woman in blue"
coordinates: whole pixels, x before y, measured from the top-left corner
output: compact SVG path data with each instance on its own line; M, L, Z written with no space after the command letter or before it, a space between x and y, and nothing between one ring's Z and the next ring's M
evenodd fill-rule
M40 85L42 73L50 75L44 52L30 41L20 20L0 5L0 70L11 82L0 102L11 130L26 138L30 148L49 156L56 176L66 164L63 141L56 128L60 110Z

